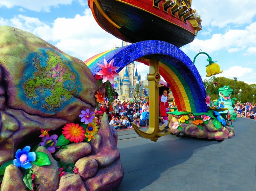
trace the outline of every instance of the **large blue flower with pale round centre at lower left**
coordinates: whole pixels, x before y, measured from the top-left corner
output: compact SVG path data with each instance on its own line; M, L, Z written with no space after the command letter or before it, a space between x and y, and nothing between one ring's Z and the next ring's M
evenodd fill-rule
M30 169L32 168L32 165L30 162L33 162L36 160L36 153L35 152L29 152L30 147L26 146L24 149L17 150L15 157L17 159L13 160L14 165L17 167L22 167L24 169Z

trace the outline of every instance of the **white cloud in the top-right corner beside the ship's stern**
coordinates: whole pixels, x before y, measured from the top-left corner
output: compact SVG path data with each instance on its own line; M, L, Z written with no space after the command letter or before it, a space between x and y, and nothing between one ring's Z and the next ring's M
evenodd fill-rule
M250 24L256 15L251 0L194 0L192 8L201 16L203 26L227 27L228 24L241 26Z

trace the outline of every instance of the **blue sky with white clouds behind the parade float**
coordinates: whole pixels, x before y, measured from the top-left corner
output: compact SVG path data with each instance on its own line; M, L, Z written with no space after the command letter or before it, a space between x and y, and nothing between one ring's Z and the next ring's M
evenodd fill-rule
M195 40L181 47L193 60L202 50L217 61L223 73L248 84L256 83L256 11L251 0L193 0L192 8L201 16L203 30ZM101 29L87 0L0 0L0 26L31 32L63 52L81 60L122 44ZM195 61L206 78L206 55ZM147 67L136 63L144 79Z

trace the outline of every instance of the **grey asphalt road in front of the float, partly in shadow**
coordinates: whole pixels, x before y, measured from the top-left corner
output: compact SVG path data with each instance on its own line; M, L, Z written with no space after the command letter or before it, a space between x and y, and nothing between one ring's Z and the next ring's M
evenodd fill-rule
M117 190L255 191L256 121L233 125L235 137L221 142L171 134L152 142L118 132L124 178Z

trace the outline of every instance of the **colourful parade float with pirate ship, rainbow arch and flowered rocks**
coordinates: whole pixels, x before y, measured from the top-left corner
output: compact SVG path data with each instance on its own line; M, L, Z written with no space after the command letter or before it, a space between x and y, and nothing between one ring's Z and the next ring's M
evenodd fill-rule
M124 176L117 132L106 114L94 111L104 97L113 101L113 78L132 61L150 67L150 127L142 131L132 124L141 137L154 142L171 133L215 140L233 137L230 116L218 112L227 109L210 109L200 74L179 49L202 29L191 3L88 0L101 28L133 44L85 62L29 32L0 27L2 191L117 188ZM211 64L209 71L216 67ZM161 76L170 84L178 109L168 116L167 129L159 127L158 120ZM95 116L102 116L100 126Z

